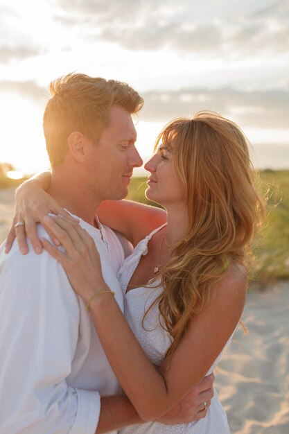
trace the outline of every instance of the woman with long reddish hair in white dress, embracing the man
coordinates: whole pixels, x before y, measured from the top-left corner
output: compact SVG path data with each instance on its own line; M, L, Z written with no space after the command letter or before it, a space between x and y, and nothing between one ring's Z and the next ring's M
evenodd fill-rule
M128 322L84 229L71 218L46 216L44 224L66 252L42 239L87 303L107 358L143 420L166 413L218 363L243 312L245 257L263 209L247 140L222 116L200 112L172 121L156 150L145 166L146 196L166 209L167 223L138 243L119 272ZM113 218L111 206L123 209L108 203L100 220L131 236L123 212ZM229 426L215 396L198 422L150 422L121 432L225 434Z

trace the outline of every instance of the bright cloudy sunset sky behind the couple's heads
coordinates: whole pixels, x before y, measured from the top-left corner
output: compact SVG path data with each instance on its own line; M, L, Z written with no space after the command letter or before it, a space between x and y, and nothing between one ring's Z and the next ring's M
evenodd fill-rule
M289 0L0 0L0 162L49 167L47 89L71 71L143 96L143 159L168 121L214 110L257 168L289 168Z

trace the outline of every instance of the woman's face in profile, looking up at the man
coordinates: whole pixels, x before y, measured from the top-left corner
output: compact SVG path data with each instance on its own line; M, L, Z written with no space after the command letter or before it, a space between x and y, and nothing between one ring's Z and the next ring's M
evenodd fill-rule
M184 205L186 195L175 171L173 147L160 145L144 167L150 172L146 189L148 199L165 208L173 204Z

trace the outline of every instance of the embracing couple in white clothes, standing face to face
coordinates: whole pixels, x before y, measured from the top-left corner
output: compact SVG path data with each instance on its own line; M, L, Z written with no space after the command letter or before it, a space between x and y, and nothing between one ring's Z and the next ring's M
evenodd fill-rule
M141 96L78 73L50 90L51 172L18 189L0 252L0 433L229 433L211 374L263 209L243 132L213 112L168 123L148 207L122 200Z

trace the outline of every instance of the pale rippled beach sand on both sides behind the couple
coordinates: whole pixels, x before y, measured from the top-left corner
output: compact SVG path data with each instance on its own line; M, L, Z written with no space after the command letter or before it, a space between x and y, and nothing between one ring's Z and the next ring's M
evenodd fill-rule
M13 204L14 189L0 190L0 242ZM289 433L288 313L289 282L249 288L243 315L247 334L236 333L216 371L232 434Z

